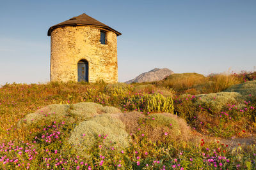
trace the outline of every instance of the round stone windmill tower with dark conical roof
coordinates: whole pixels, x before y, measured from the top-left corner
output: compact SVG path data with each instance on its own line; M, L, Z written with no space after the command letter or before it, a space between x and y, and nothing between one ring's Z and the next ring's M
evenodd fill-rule
M50 27L51 81L116 83L120 35L85 13Z

